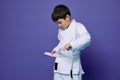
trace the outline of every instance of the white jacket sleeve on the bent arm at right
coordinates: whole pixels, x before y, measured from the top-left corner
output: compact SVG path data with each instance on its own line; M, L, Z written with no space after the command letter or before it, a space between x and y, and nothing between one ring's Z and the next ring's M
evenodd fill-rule
M76 27L76 39L70 44L73 50L83 50L90 44L91 36L84 25L78 24Z

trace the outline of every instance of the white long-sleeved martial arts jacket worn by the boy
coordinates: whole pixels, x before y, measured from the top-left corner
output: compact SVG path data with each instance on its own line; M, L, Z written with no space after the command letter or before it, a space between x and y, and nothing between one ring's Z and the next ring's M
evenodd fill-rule
M89 33L84 25L72 20L70 26L65 29L59 29L58 32L59 44L54 48L57 54L55 63L57 63L54 72L61 74L83 74L84 71L80 62L80 51L86 48L91 40ZM63 51L65 44L70 43L72 48L70 50Z

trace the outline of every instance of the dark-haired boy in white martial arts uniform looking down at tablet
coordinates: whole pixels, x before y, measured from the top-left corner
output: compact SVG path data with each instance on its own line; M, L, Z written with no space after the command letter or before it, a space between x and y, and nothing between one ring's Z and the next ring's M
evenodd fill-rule
M60 27L59 44L51 51L51 55L59 54L55 59L54 80L82 80L80 51L89 45L91 37L84 25L71 18L65 5L57 5L51 18Z

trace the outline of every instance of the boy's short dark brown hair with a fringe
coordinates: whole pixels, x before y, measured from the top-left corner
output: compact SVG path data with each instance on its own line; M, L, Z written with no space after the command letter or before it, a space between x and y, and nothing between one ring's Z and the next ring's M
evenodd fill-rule
M66 15L71 16L70 10L65 5L57 5L51 15L53 21L58 21L58 19L65 19Z

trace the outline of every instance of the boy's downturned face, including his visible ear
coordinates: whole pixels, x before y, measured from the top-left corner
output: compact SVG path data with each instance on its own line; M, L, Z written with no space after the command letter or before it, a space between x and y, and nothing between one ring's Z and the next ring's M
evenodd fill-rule
M58 26L63 30L67 29L70 23L71 23L71 19L69 15L67 15L65 19L58 19L57 21Z

